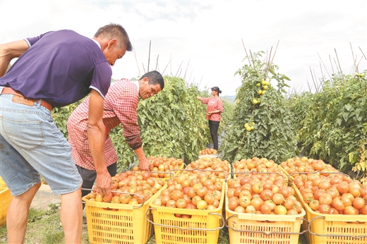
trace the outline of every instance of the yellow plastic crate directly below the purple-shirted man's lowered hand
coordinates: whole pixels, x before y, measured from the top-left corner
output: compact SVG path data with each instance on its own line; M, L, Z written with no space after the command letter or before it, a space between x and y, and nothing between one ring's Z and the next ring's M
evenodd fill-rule
M160 195L162 189L155 195ZM145 216L152 197L143 205L91 202L85 197L82 199L85 202L90 243L146 243L152 236L152 224ZM152 214L148 214L148 219L152 219Z

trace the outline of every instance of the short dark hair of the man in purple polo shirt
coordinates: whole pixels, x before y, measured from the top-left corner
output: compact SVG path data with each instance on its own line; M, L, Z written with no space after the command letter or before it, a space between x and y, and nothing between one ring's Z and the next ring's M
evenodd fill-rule
M133 45L128 38L128 33L119 24L110 23L109 25L102 26L95 32L95 37L116 39L120 48L126 47L126 51L133 51Z

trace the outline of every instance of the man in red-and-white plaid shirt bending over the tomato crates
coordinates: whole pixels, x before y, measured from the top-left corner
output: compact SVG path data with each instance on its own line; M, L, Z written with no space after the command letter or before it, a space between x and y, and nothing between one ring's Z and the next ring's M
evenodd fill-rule
M128 79L121 79L113 83L106 94L103 106L103 123L106 128L106 135L100 138L100 143L104 143L104 159L107 170L111 176L116 174L117 154L109 138L109 131L119 126L124 127L124 138L128 145L134 150L139 160L139 169L150 171L150 162L145 157L143 151L143 142L140 139L140 128L138 126L138 108L139 97L147 99L160 92L164 87L162 75L157 71L145 73L140 80L133 82ZM88 108L89 99L87 97L73 111L68 118L68 142L72 147L73 159L76 163L80 176L83 178L82 188L91 189L97 178L97 169L90 152L90 142L88 142ZM103 141L102 141L103 140ZM89 193L88 190L82 190L82 195Z

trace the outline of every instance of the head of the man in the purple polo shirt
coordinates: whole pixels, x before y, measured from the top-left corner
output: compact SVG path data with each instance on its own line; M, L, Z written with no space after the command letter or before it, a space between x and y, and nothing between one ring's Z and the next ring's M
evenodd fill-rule
M119 24L104 25L97 30L94 39L101 43L102 52L111 66L114 66L116 60L121 59L126 51L133 50L128 33Z

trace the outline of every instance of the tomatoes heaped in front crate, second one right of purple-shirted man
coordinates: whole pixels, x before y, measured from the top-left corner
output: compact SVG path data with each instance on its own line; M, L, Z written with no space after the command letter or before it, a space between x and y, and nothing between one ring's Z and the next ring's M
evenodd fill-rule
M183 170L172 180L160 196L152 200L152 205L179 209L217 209L222 197L224 181L210 171ZM175 214L176 217L190 219L190 214Z

